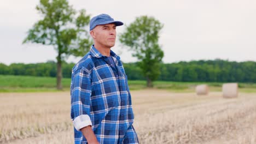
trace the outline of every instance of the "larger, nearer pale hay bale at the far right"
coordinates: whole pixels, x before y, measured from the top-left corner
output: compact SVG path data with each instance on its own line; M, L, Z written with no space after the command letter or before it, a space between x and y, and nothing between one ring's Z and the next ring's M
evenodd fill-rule
M224 83L222 85L223 98L236 98L238 96L237 83Z

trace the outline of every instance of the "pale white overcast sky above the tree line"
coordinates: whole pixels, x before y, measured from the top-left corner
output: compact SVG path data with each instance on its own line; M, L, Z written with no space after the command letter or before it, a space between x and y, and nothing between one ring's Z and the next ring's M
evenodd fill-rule
M26 32L40 19L38 0L0 0L0 63L37 63L55 60L51 46L24 44ZM72 0L77 10L86 9L91 16L106 13L129 25L136 17L154 16L164 23L159 44L165 63L199 59L256 61L255 0ZM117 28L117 33L125 26ZM112 48L124 62L136 61L131 53ZM69 57L68 62L79 58Z

